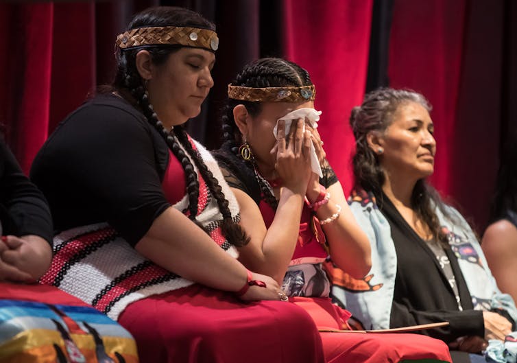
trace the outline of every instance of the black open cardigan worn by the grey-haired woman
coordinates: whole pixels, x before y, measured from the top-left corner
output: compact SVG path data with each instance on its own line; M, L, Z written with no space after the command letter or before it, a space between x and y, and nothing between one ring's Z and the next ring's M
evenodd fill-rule
M455 276L461 309L431 248L407 224L385 194L376 198L379 209L391 227L397 254L390 327L448 321L448 327L424 330L421 333L445 342L452 342L460 336L484 336L483 312L474 310L472 297L450 246L444 246L444 252ZM504 310L492 311L505 316L512 325L515 324Z

